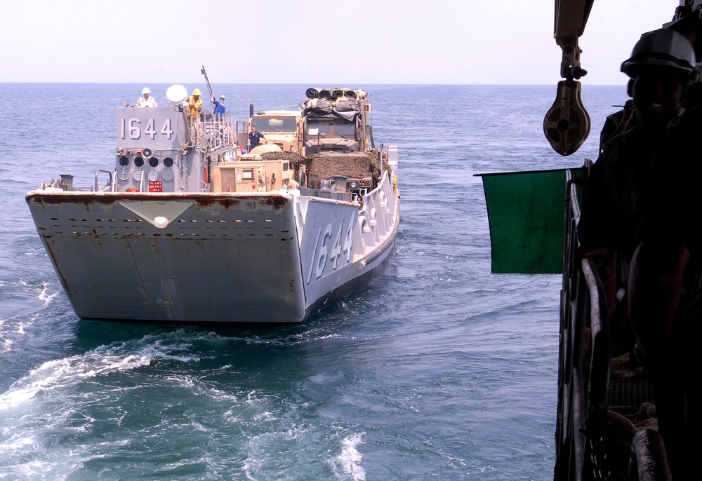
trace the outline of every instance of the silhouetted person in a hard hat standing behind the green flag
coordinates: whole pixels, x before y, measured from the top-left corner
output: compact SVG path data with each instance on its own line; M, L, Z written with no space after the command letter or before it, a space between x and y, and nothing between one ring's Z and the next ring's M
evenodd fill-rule
M630 77L635 126L604 144L590 172L578 224L581 254L599 266L610 312L617 306L617 313L626 312L629 263L636 248L647 172L668 123L682 113L695 65L691 43L671 29L642 35L621 65L621 72ZM620 341L623 348L633 348L626 316L622 322Z

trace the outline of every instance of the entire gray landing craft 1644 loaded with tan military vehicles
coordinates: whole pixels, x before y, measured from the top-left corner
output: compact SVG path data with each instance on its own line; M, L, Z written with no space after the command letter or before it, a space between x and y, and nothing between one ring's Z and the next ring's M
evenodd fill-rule
M308 89L301 149L246 155L250 121L190 116L182 86L171 107L119 107L114 168L90 191L62 175L26 196L77 315L298 323L380 276L399 224L397 148L375 147L366 96Z

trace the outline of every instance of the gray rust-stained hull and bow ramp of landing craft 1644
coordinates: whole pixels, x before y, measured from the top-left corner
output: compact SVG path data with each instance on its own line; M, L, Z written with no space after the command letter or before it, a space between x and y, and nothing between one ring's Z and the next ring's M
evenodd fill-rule
M37 230L81 318L296 323L388 265L388 176L354 203L291 193L37 190Z

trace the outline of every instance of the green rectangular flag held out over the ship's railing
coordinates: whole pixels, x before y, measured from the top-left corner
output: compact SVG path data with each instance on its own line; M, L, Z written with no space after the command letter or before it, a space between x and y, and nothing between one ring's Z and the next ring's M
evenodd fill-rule
M477 174L485 191L493 273L562 273L566 170L583 175L583 168Z

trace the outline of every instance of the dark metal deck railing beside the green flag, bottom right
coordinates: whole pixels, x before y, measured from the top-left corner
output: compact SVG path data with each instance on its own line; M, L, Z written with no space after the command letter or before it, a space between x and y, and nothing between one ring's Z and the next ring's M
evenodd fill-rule
M578 255L578 183L567 172L555 480L606 480L611 341L604 285Z

